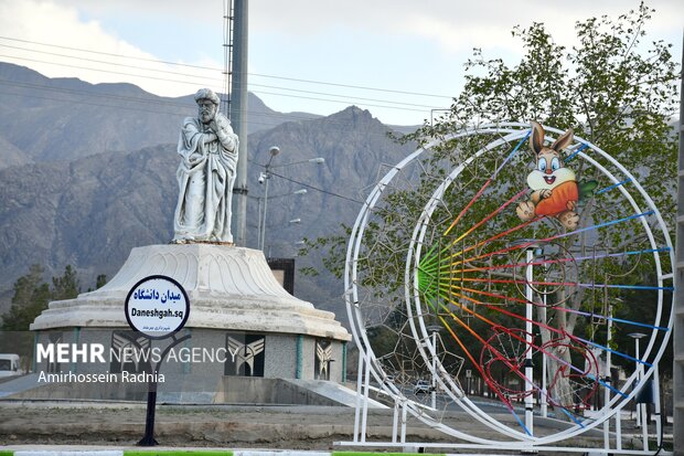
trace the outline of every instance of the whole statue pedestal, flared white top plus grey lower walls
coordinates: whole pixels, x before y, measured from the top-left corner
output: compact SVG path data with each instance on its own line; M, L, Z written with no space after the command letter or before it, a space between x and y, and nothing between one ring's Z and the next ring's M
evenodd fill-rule
M216 392L226 384L224 377L232 375L345 380L346 342L351 340L346 329L333 312L289 295L260 251L242 247L171 244L133 248L100 289L50 303L31 325L38 343L99 343L107 350L142 343L163 351L170 340L141 339L128 327L124 310L129 290L151 275L171 277L186 290L190 317L178 337L191 338L174 350L200 357L181 359L175 354L175 359L164 360L161 372L167 380L160 392L165 391L169 397L216 400ZM213 357L217 351L223 351L224 359L207 360L207 353ZM111 356L105 363L36 365L36 372L83 374L146 369L149 365L143 362L117 362ZM113 389L109 385L94 395L121 399Z

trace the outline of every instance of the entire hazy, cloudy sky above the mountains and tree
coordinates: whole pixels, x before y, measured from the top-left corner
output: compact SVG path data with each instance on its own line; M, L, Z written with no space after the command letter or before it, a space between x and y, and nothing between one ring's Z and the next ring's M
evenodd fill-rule
M656 9L648 39L674 43L681 61L684 2L648 4ZM638 6L253 0L249 89L280 112L327 115L354 104L388 124L420 124L458 94L472 47L514 62L516 24L544 22L557 42L571 45L577 20L617 18ZM221 91L223 13L223 0L0 0L0 61L51 77L130 82L159 95Z

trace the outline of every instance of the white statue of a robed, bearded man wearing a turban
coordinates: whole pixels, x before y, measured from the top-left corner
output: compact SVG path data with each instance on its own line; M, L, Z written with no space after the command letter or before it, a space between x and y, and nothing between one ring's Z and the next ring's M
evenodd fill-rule
M237 135L218 112L209 88L195 94L199 117L188 117L178 141L180 193L173 219L174 243L232 243L231 200L237 166Z

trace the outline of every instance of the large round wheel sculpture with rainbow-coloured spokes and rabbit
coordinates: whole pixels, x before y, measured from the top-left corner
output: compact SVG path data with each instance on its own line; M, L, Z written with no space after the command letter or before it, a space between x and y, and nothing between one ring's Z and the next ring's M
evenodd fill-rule
M630 170L571 131L500 124L387 168L352 229L345 296L387 397L466 442L523 447L596 427L654 375L673 271L665 223ZM426 380L434 394L415 394ZM565 426L535 434L535 403ZM488 433L461 432L451 410Z

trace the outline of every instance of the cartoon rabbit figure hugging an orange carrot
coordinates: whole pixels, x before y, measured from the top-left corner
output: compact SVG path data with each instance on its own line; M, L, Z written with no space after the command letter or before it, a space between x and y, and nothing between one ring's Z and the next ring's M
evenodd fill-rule
M573 129L563 134L551 147L544 146L544 128L532 121L530 147L536 157L536 167L527 176L533 190L528 201L517 205L517 216L528 221L535 216L556 216L567 230L579 222L576 212L579 200L575 172L565 167L560 151L573 142Z

